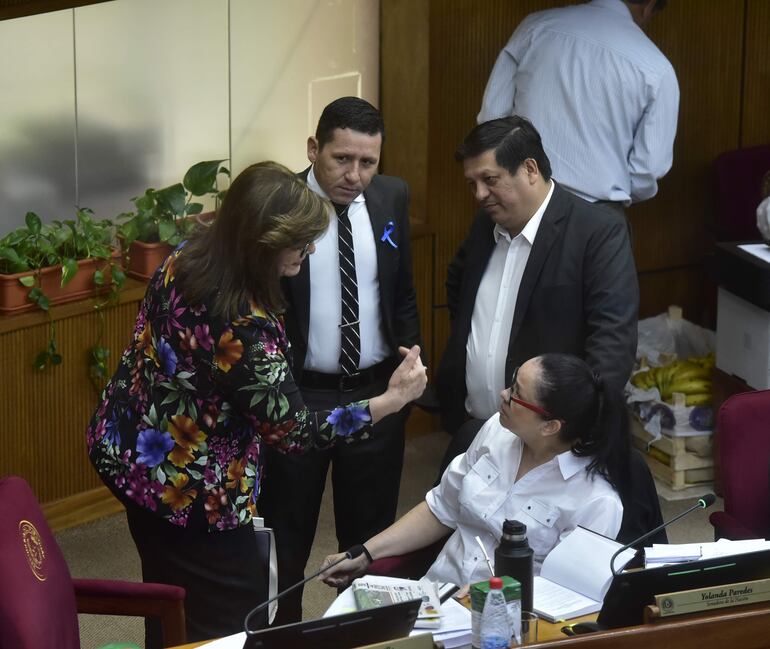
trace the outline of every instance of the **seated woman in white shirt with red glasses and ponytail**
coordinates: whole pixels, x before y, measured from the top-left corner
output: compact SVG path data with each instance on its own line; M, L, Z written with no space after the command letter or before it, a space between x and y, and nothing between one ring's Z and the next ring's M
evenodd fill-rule
M481 581L489 570L475 537L492 555L505 519L527 525L538 574L546 555L578 525L615 538L629 457L620 394L576 356L530 359L501 392L499 413L452 461L441 483L366 541L369 556L343 561L323 581L344 586L364 574L372 558L406 554L450 534L427 576L458 585Z

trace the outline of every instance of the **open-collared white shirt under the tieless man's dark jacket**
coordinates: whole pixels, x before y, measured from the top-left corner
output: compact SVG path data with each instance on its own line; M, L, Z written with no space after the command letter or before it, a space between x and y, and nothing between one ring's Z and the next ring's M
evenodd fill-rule
M510 378L505 376L505 359L516 299L540 221L553 195L553 181L550 184L545 199L519 234L511 238L505 228L496 225L494 229L495 247L476 293L465 344L465 411L476 419L489 419L497 412L500 390Z

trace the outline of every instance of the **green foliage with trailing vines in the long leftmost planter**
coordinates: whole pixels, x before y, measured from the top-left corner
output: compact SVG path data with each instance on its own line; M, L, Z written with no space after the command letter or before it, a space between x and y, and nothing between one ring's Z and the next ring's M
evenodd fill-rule
M107 219L95 220L91 210L82 208L74 219L55 220L47 224L34 212L27 212L24 221L25 227L17 228L0 239L0 274L28 273L22 275L19 282L30 288L29 299L48 314L48 342L34 360L34 366L44 370L50 365L60 364L62 357L56 342L56 325L50 317L51 300L41 286L41 271L50 266L60 266L61 286L65 286L77 273L78 261L103 259L105 263L93 274L94 284L104 287L105 270L110 269L109 291L94 305L102 321L101 310L117 301L125 274L120 265L112 261L113 223ZM109 350L100 347L102 329L103 326L97 347L102 350L99 353L103 356L104 351L109 354Z

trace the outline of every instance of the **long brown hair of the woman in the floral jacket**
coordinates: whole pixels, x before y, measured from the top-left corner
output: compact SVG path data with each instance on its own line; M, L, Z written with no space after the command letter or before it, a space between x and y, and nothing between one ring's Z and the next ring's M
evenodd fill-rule
M226 320L237 318L250 301L282 311L279 254L321 236L330 210L286 167L247 167L227 190L213 224L196 230L174 261L185 301L211 299L213 315Z

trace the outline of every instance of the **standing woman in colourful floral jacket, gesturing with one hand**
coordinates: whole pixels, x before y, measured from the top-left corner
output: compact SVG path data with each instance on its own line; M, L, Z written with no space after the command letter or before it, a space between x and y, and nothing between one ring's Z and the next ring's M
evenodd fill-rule
M314 251L329 209L276 163L241 173L213 225L153 276L88 427L91 462L126 505L145 581L187 590L190 641L239 631L267 597L251 524L261 445L296 453L365 439L425 387L414 347L382 395L304 406L280 278ZM161 646L157 623L147 633L148 647Z

